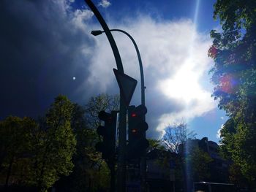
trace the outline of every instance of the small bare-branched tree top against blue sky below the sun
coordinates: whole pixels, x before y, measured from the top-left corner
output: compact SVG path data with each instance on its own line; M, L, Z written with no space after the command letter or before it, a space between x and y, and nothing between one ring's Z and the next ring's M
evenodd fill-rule
M179 153L181 145L187 139L195 139L194 131L189 131L186 123L174 123L165 128L165 134L162 137L162 143L171 153Z

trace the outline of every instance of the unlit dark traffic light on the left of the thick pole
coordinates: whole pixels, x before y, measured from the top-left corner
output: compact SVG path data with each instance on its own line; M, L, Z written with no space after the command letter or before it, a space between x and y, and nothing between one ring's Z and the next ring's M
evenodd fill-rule
M95 146L96 150L102 153L102 158L109 161L115 154L116 147L116 111L111 113L100 111L99 120L104 121L104 126L97 128L97 134L102 136L102 142Z

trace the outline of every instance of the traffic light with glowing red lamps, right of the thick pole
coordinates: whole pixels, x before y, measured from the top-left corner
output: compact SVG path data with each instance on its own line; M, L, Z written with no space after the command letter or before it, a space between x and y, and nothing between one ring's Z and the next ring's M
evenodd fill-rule
M128 140L127 158L139 158L148 147L146 131L148 123L145 121L147 108L141 104L128 108Z

